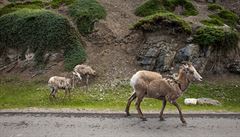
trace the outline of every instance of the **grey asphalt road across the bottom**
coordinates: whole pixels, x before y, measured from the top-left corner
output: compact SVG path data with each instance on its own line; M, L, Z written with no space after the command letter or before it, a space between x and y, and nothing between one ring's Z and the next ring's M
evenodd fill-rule
M121 115L0 114L0 137L240 137L240 119L176 115L159 121Z

